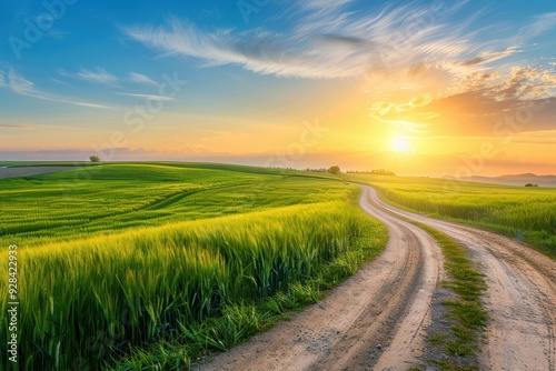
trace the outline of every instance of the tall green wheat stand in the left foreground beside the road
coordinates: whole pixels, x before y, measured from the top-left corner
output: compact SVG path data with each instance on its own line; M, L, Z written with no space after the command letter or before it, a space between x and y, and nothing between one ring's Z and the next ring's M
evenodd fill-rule
M22 367L97 369L130 347L171 339L179 323L311 277L368 225L355 205L338 201L22 249Z

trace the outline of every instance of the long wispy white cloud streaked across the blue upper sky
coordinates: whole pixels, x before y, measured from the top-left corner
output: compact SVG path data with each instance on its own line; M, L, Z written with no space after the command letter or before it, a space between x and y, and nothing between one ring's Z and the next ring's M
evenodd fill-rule
M553 28L556 14L535 17L513 37L486 39L489 32L471 29L478 14L461 22L450 20L466 1L390 4L371 13L349 11L351 2L305 1L298 6L297 24L289 30L207 31L170 19L160 27L125 27L122 31L166 56L198 59L201 67L236 64L256 73L309 79L440 73L449 84L454 77L515 56L528 39Z

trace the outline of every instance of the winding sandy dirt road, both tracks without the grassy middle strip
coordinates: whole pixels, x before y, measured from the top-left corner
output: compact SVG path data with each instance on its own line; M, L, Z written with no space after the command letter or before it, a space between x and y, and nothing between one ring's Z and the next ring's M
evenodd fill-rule
M401 211L363 187L361 208L389 231L386 250L325 300L195 370L407 370L426 365L439 247L418 220L464 243L487 275L483 370L555 371L556 262L509 239Z

